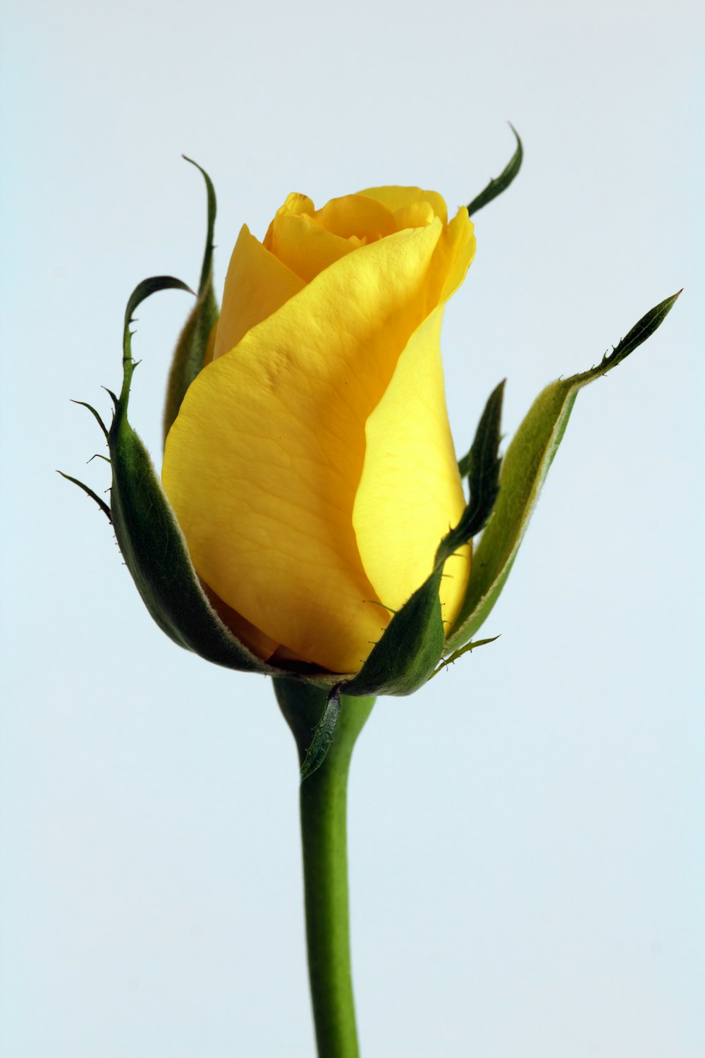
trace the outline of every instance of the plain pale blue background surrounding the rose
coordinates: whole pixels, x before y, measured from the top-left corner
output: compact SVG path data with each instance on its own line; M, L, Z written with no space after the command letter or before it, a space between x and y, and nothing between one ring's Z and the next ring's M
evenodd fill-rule
M378 183L477 216L444 331L468 443L511 435L682 286L578 398L498 642L381 701L351 788L365 1058L702 1058L702 391L697 4L5 4L3 1058L308 1058L289 730L262 678L172 645L105 518L88 413L126 298L217 277L292 190ZM132 420L157 454L189 303L145 305ZM702 524L701 524L702 529Z

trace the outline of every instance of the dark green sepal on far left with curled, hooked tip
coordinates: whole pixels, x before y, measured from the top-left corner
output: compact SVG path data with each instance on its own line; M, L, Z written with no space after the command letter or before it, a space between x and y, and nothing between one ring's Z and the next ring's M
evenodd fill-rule
M210 606L149 453L128 422L135 368L129 325L141 302L166 289L189 290L171 276L145 279L133 291L125 313L123 388L114 398L115 412L108 431L115 536L147 609L175 643L228 669L279 673L281 670L251 654Z

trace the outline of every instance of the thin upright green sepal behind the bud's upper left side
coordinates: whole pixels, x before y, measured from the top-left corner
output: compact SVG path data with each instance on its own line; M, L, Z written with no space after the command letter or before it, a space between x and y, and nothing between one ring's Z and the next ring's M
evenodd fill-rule
M206 245L203 254L203 264L201 266L201 279L199 282L198 299L186 321L183 331L177 343L177 348L169 371L167 383L166 402L164 405L164 440L171 428L171 424L179 415L179 408L186 396L186 390L191 382L203 368L203 362L208 347L208 339L215 325L218 323L220 310L216 302L212 286L212 252L214 252L214 231L216 226L216 189L210 177L192 159L184 159L194 165L203 175L206 183L208 198L208 223L206 231Z

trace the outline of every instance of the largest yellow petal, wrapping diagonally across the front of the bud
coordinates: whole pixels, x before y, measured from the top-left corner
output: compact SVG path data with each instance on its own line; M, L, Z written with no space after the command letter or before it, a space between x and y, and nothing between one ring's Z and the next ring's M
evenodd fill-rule
M359 669L389 620L353 505L366 423L423 322L441 231L437 219L331 266L201 371L167 439L164 486L197 571L333 672Z

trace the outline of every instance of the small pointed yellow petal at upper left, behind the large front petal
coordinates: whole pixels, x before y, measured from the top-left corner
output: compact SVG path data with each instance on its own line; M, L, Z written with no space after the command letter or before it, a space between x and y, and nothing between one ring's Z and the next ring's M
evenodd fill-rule
M265 250L243 224L225 277L212 359L229 352L251 327L280 309L303 286L303 280Z

